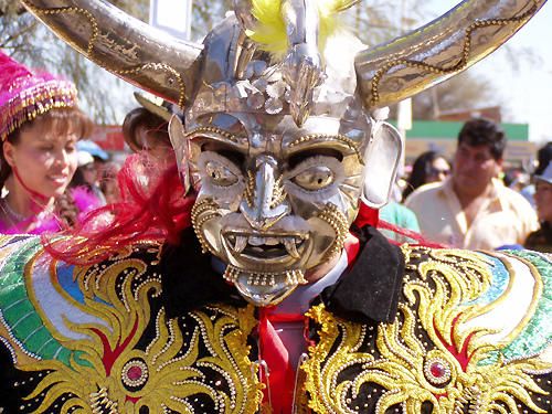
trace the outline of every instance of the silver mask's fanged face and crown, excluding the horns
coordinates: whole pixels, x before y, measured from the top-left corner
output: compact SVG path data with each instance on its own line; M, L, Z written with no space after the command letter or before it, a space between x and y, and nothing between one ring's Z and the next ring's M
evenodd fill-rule
M204 251L227 264L224 277L245 298L267 306L341 252L375 121L354 93L363 47L354 38L333 38L326 53L293 46L278 60L252 53L242 31L229 18L210 34L201 85L170 135L198 192L192 223ZM388 137L394 176L401 139Z

